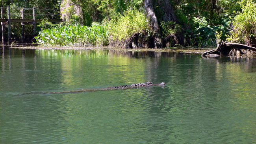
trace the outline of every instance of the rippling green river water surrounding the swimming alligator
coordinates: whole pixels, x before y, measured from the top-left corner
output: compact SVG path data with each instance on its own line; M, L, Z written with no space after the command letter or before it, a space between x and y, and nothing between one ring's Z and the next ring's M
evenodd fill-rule
M68 94L152 81L141 87ZM256 58L0 51L1 144L255 144Z

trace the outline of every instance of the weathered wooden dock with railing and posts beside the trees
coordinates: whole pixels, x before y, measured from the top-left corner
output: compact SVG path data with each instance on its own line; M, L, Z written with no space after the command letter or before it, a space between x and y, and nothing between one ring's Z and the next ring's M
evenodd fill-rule
M7 13L4 13L4 9L7 9ZM18 9L20 10L20 13L11 13L10 9ZM25 13L25 10L27 11L33 11L33 13ZM20 22L22 25L22 43L24 42L24 25L26 24L32 24L33 25L33 36L35 37L35 28L36 28L36 24L37 22L41 22L43 19L37 19L36 16L41 16L41 17L45 17L46 16L54 16L56 14L52 14L52 13L48 13L48 14L41 14L41 13L37 13L36 14L36 10L40 10L40 11L56 11L54 9L36 9L35 7L33 9L25 9L25 8L11 8L10 6L8 7L1 7L1 18L0 18L0 22L2 25L2 42L4 44L4 25L8 25L8 42L11 42L11 22ZM4 17L4 15L7 14L7 18ZM20 19L19 18L11 18L11 14L15 14L20 15ZM58 14L59 15L59 14ZM26 18L25 16L28 16L29 18ZM33 16L33 18L31 17ZM52 19L47 19L49 22L62 22L61 19L58 18L52 18Z

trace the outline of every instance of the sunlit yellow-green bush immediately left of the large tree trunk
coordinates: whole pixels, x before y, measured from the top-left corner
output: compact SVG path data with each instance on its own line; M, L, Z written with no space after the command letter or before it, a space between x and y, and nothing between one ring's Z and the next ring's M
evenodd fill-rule
M127 11L126 15L110 20L108 30L114 41L124 41L135 33L151 33L147 17L138 10Z

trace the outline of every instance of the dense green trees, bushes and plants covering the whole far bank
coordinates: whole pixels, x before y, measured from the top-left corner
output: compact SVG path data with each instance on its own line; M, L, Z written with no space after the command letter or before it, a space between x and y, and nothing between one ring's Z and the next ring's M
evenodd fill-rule
M215 47L222 40L256 44L255 0L170 0L177 21L164 20L164 1L154 0L157 33L144 9L145 0L6 0L1 4L59 9L62 24L45 20L37 30L37 41L46 45L127 46L130 42L150 47L138 43L152 41L154 35L167 47ZM13 34L19 36L17 31Z

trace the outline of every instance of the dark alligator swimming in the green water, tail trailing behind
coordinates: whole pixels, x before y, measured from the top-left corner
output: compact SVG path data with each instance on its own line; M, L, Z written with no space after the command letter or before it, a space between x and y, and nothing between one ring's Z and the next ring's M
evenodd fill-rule
M165 85L164 82L162 83L151 83L150 81L146 83L135 83L132 85L121 85L121 86L115 86L115 87L107 87L107 88L101 88L101 89L78 89L78 90L69 90L69 91L60 91L60 92L29 92L19 95L25 95L25 94L66 94L66 93L80 93L80 92L96 92L96 91L103 91L103 90L117 90L117 89L132 89L137 87L151 87L151 86L162 86Z

